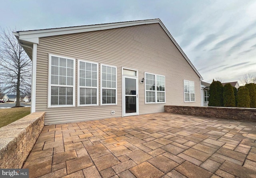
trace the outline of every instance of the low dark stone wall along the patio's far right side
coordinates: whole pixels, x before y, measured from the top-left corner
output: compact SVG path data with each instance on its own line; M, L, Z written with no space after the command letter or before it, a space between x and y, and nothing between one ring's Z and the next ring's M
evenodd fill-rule
M256 122L256 108L164 106L164 112Z

